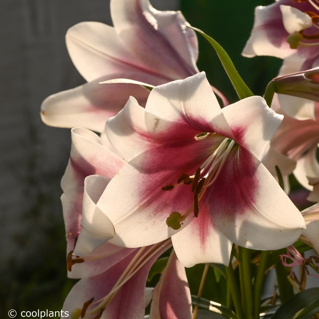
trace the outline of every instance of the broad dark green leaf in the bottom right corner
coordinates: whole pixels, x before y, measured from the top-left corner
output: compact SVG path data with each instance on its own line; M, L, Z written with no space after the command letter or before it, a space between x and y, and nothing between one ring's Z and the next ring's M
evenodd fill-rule
M302 312L294 317L300 310ZM318 311L319 288L309 288L281 305L271 319L308 319Z

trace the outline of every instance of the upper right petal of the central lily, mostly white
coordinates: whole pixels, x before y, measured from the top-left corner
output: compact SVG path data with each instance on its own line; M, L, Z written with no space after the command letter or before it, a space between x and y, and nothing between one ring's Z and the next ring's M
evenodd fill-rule
M261 160L283 116L260 96L251 96L222 109L235 140Z

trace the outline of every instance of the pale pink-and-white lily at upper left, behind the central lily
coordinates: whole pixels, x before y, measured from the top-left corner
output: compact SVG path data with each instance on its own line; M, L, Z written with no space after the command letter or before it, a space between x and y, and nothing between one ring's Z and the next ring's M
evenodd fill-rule
M110 11L114 27L81 22L67 31L71 60L88 83L44 100L46 124L102 132L130 95L144 106L149 92L139 85L100 82L127 78L160 85L198 72L197 37L180 11L158 11L148 0L111 0Z

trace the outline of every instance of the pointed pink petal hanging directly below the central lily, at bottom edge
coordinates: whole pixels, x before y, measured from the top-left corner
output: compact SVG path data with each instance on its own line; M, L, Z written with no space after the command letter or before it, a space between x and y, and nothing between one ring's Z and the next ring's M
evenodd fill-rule
M187 319L191 315L192 302L185 268L172 251L154 290L150 319Z

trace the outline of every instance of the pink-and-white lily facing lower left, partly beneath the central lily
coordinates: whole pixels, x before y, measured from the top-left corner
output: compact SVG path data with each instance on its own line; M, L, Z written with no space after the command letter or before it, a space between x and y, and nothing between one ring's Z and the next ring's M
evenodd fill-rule
M142 319L153 293L152 288L145 288L150 267L172 246L171 240L139 249L107 242L114 236L114 228L95 204L125 161L109 150L111 146L105 143L106 139L102 141L87 129L74 128L71 136L71 154L61 183L64 191L61 199L68 277L81 280L72 288L63 309L72 319L92 318L92 315L102 319L134 315ZM171 295L167 291L168 280ZM185 269L174 251L155 289L151 318L158 318L157 312L161 318L190 318L192 308ZM125 307L122 307L123 300Z

